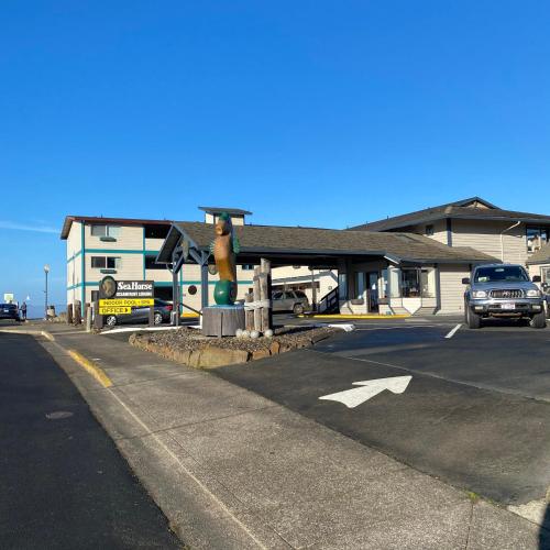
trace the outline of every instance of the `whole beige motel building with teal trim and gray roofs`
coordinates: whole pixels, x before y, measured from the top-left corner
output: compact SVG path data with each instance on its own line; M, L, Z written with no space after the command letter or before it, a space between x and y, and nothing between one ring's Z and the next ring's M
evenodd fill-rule
M463 312L462 278L480 263L519 263L550 283L550 216L503 210L480 197L348 230L255 226L245 210L200 209L202 222L68 216L67 302L90 302L109 274L154 280L157 298L177 293L196 310L213 304L209 248L222 211L241 243L238 299L252 288L262 257L272 262L275 290L302 290L320 312Z

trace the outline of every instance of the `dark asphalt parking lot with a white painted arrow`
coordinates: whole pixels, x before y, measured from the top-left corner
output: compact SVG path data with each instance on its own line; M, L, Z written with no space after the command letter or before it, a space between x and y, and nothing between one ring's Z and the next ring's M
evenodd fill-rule
M550 328L453 332L461 321L359 321L314 350L215 372L458 487L501 504L540 499L550 485ZM369 384L381 378L398 380ZM350 396L353 408L338 400Z

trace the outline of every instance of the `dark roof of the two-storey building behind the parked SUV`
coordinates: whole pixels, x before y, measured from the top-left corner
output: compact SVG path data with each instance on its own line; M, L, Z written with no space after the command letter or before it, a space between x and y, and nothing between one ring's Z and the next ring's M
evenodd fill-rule
M465 204L466 201L460 201ZM483 201L486 202L486 201ZM362 231L388 231L400 228L407 228L417 223L426 223L430 221L441 220L446 218L453 219L475 219L475 220L499 220L499 221L524 221L527 223L548 223L550 224L550 216L518 212L515 210L503 210L501 208L476 208L464 207L457 202L441 205L439 207L427 208L410 212L403 216L395 216L386 220L373 221L351 228L352 230Z

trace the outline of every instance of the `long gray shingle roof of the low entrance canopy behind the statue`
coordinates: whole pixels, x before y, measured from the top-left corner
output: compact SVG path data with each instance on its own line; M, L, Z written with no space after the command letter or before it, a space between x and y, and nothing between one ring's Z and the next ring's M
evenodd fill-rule
M213 226L200 222L175 222L198 250L208 250L213 240ZM263 252L286 254L380 255L403 261L475 263L494 257L470 248L450 248L427 237L414 233L378 233L339 229L288 228L276 226L234 227L241 253ZM168 262L178 235L170 232L158 260Z

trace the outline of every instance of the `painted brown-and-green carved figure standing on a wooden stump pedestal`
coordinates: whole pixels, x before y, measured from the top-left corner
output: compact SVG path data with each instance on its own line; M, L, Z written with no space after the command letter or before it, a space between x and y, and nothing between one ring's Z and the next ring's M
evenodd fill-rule
M215 227L216 239L210 244L220 280L216 283L213 298L219 306L232 306L237 299L237 263L239 239L227 212L222 212Z

